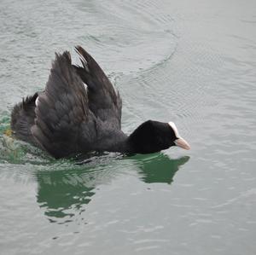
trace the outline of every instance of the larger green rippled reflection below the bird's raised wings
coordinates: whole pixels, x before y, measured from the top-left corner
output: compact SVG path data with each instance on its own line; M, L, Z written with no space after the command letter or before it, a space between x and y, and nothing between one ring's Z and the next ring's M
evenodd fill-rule
M84 212L84 205L95 194L97 174L88 169L38 172L37 200L49 221L67 223Z

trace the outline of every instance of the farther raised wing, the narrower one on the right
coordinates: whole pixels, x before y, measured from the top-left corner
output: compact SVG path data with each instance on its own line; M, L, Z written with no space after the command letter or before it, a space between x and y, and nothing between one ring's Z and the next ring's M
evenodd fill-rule
M96 117L107 121L114 128L121 128L122 100L119 92L113 89L102 68L81 46L76 47L83 67L73 66L84 84L88 86L90 110Z

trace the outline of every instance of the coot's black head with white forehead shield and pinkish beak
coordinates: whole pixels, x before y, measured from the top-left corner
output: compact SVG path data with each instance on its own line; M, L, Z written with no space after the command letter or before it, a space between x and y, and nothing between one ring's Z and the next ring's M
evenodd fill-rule
M138 154L151 154L172 146L189 149L186 142L178 133L173 122L164 123L148 120L139 125L129 136L131 151Z

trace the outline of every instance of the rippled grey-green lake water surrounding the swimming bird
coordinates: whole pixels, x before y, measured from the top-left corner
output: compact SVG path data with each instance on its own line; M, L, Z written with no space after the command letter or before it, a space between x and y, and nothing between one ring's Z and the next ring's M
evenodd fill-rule
M0 7L1 254L256 254L254 0ZM77 44L119 89L125 132L172 120L191 150L74 165L4 135Z

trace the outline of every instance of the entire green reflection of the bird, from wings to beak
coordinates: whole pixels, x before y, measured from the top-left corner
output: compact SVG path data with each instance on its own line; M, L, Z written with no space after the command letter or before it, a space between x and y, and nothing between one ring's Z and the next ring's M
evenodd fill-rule
M179 166L188 160L189 157L170 159L166 154L135 155L121 160L108 160L108 165L104 165L103 161L96 167L70 164L62 170L38 171L38 204L44 208L44 214L50 222L73 222L78 217L83 219L82 212L92 196L100 192L97 186L110 183L119 175L122 162L125 162L123 168L135 167L145 183L172 183Z

